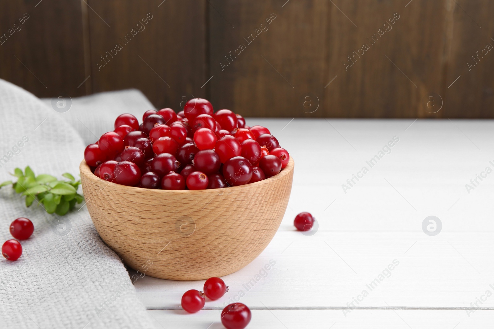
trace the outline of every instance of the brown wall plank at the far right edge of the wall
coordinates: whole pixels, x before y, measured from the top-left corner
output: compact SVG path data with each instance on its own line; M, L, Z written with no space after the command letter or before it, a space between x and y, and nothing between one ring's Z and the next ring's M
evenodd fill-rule
M494 118L494 2L456 2L446 78L446 115Z

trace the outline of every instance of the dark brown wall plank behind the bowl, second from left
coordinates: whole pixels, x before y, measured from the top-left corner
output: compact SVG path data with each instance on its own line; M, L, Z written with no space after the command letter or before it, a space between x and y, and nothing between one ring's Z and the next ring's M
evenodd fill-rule
M177 111L191 95L205 97L205 3L88 1L93 91L138 88Z

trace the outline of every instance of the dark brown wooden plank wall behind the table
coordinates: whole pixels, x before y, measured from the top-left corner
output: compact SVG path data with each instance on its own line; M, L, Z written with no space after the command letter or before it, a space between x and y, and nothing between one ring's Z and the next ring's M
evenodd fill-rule
M133 87L177 111L493 118L493 15L492 0L1 1L0 77L39 97Z

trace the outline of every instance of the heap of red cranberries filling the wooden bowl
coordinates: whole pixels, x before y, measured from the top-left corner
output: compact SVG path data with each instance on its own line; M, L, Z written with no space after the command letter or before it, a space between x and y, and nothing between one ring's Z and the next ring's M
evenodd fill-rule
M184 110L132 114L84 150L94 175L128 186L206 189L237 186L275 176L289 154L262 126L246 126L231 110L213 113L209 101L189 100Z

